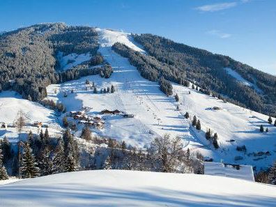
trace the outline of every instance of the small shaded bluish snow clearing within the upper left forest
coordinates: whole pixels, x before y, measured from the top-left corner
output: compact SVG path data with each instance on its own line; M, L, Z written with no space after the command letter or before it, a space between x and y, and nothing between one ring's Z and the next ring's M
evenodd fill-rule
M69 70L79 65L80 63L89 61L91 59L91 54L90 52L86 54L71 53L66 56L63 56L63 52L59 52L57 59L59 61L61 70Z

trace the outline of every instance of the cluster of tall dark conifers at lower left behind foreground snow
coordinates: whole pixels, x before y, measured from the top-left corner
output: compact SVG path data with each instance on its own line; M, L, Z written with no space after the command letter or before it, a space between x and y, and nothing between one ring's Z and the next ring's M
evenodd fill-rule
M1 163L10 176L20 173L22 178L77 171L79 148L69 130L60 138L50 137L47 129L45 132L41 130L40 135L33 135L30 131L28 139L20 142L17 152L7 138L0 142L0 168Z

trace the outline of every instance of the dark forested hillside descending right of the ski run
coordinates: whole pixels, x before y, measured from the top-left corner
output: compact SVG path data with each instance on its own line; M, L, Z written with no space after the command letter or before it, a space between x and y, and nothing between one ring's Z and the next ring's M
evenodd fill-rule
M176 74L181 73L182 79L196 81L203 89L225 95L227 100L244 105L256 112L275 114L275 76L234 61L229 56L174 43L160 36L141 34L133 35L133 37L149 55L177 68L179 72ZM235 70L248 82L256 84L263 93L257 93L253 87L237 82L224 68Z

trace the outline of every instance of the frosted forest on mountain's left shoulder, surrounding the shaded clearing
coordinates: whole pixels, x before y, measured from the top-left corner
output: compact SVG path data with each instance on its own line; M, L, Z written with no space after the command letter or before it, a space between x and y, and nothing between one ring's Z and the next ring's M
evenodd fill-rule
M97 54L98 33L87 26L66 24L37 24L0 36L0 91L13 89L23 98L38 101L47 96L46 86L84 75L100 74L108 77L110 68L69 70L56 72L57 52L86 53L92 56L91 66L102 63Z

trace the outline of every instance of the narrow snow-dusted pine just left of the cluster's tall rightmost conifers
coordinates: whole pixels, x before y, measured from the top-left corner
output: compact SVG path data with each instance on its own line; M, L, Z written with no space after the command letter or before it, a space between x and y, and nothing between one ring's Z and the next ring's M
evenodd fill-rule
M59 139L53 155L53 173L61 173L65 171L63 139Z

